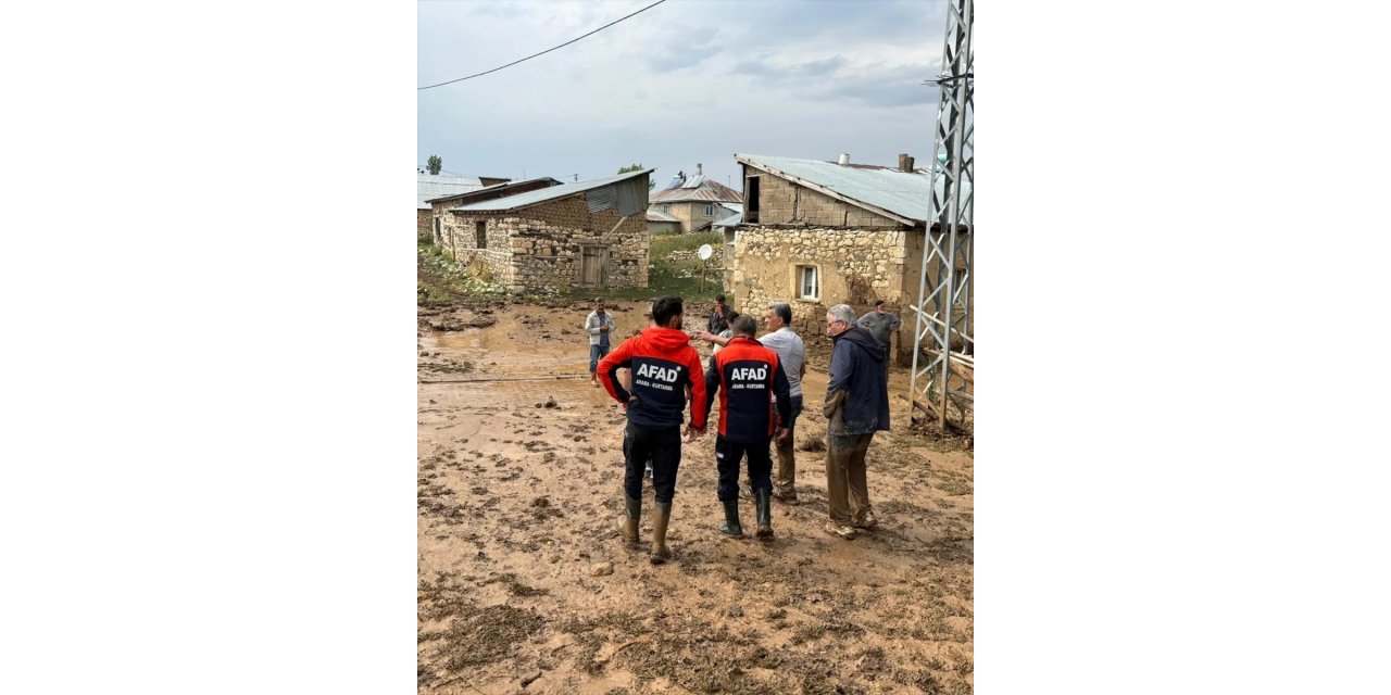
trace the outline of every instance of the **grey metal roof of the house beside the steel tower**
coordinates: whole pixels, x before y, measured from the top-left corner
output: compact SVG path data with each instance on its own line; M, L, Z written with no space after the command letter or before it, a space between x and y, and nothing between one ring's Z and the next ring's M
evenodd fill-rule
M734 154L734 161L805 181L899 217L918 222L928 218L928 186L932 185L932 179L925 174L910 174L890 167L842 167L833 161L764 154ZM939 192L943 185L939 178ZM964 185L963 193L970 195L970 183Z

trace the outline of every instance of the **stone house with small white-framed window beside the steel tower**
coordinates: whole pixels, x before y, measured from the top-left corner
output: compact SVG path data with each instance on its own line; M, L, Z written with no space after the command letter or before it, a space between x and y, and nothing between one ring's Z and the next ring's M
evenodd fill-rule
M725 288L734 307L787 302L793 328L815 336L830 306L862 314L883 299L903 320L894 354L910 363L929 174L907 154L899 167L850 164L844 154L839 163L758 154L734 161L744 178L743 218L726 232L733 247Z

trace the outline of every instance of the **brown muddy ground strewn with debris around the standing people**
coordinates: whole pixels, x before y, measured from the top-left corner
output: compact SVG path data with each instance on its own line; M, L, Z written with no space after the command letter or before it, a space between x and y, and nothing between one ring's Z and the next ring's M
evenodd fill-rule
M615 338L645 325L645 306L618 304ZM684 445L675 557L652 566L650 484L641 545L615 525L625 420L588 382L588 310L420 310L419 691L971 692L972 456L908 430L907 370L868 455L876 531L822 531L825 455L798 450L801 505L773 502L776 537L719 535L708 434ZM815 448L826 339L803 338L797 439ZM740 510L751 532L753 502Z

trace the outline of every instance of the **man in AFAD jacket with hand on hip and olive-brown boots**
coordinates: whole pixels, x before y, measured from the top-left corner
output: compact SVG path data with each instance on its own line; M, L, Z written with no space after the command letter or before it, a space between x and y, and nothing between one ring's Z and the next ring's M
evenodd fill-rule
M665 296L652 303L652 322L641 334L623 341L598 366L600 381L627 410L623 432L623 498L627 514L619 525L629 543L637 542L643 516L643 468L652 461L657 512L652 517L652 564L666 562L666 524L676 495L676 468L682 463L682 413L690 395L691 423L687 442L705 434L705 381L700 356L682 328L682 297ZM615 370L630 370L632 392L613 378Z

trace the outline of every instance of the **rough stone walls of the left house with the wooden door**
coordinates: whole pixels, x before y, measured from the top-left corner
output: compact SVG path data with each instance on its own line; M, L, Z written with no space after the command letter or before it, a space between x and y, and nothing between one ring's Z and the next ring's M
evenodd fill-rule
M510 213L449 213L444 247L470 267L487 268L492 282L566 289L580 286L581 247L601 246L608 252L605 286L645 288L647 218L638 211L619 220L616 207L590 213L583 195ZM485 249L477 246L479 222Z

